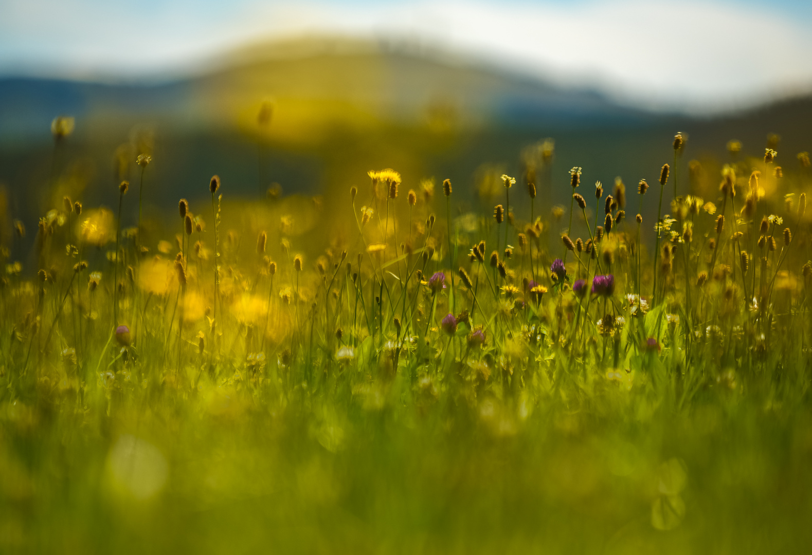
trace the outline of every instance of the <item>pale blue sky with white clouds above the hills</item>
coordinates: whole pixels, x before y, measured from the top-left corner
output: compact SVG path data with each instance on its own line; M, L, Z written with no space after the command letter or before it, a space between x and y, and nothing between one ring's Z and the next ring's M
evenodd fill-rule
M244 45L328 35L712 112L812 91L810 29L810 0L0 0L0 75L184 75Z

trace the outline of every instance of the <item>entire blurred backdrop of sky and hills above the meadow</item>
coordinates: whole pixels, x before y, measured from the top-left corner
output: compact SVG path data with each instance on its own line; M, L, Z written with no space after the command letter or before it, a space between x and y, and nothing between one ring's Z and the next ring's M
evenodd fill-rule
M785 170L812 150L810 24L803 0L4 0L0 187L36 226L63 195L114 206L149 153L153 215L205 202L212 174L231 198L348 205L384 167L404 191L450 178L463 213L538 162L548 210L572 166L656 183L682 131L680 171L705 172L685 192L711 196L728 140L761 157L778 134ZM58 115L75 127L55 141Z

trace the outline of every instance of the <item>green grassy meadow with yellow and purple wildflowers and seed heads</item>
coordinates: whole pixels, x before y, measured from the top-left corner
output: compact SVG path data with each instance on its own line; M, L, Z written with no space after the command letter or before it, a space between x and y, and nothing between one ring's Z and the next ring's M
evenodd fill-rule
M478 212L52 162L37 229L0 203L0 551L806 553L809 155L686 140L605 184L532 144Z

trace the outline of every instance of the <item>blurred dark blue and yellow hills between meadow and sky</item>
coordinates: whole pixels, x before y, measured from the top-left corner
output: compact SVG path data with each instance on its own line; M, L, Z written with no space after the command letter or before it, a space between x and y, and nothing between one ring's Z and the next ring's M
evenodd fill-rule
M263 131L257 114L267 98L274 114ZM57 114L76 117L60 153L50 138ZM147 135L154 137L149 179L158 183L149 202L157 205L202 195L215 173L236 193L264 195L280 183L285 192L330 196L387 166L404 174L404 188L451 177L462 198L476 202L483 174L520 174L521 149L553 137L544 196L552 204L568 201L566 187L555 185L572 166L584 168L585 183L618 175L656 181L659 166L672 161L676 131L689 136L685 165L723 155L732 138L758 155L770 132L794 157L812 149L810 116L810 97L704 118L663 114L411 45L302 38L254 45L182 78L0 79L0 183L11 187L15 209L41 213L61 199L41 191L46 168L64 174L80 160L79 184L63 190L112 204L114 153ZM39 195L29 199L28 191Z

